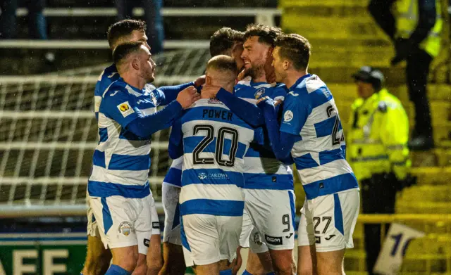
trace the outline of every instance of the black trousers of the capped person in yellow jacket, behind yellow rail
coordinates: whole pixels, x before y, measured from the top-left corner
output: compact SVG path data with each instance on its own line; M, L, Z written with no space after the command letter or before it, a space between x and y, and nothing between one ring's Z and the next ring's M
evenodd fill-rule
M393 214L395 212L396 178L388 174L376 174L361 183L362 212L364 214ZM388 230L388 226L386 227ZM385 234L387 231L385 231ZM373 267L381 251L381 224L364 225L366 270L373 274Z

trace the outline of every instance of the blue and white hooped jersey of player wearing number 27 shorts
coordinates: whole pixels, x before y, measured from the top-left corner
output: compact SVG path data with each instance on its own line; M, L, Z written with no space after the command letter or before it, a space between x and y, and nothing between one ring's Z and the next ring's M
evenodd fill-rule
M332 94L316 75L297 80L283 102L280 132L299 136L291 150L307 199L358 188Z

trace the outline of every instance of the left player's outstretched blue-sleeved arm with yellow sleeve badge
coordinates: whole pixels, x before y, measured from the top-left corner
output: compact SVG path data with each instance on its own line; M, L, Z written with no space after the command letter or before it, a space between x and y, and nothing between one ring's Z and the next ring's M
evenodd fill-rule
M135 99L122 91L113 96L107 94L102 100L100 108L101 113L141 138L149 138L155 132L169 127L183 110L178 101L172 101L158 112L144 115L135 105Z

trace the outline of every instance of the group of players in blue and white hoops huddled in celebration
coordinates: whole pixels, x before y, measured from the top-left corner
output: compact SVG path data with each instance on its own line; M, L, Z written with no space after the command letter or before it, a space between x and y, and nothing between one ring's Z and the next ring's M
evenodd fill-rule
M205 76L156 88L145 29L140 20L109 27L82 274L237 274L241 248L250 248L243 274L344 274L359 188L333 96L307 72L309 41L265 25L223 27ZM148 174L152 134L168 127L162 259ZM306 193L297 269L293 164Z

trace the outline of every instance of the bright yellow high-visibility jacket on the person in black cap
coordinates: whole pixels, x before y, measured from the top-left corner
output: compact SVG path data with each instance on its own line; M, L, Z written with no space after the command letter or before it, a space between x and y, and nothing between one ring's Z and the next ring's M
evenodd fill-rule
M404 179L412 165L408 139L407 114L387 89L352 103L346 158L359 181L383 172L394 172L397 179Z

